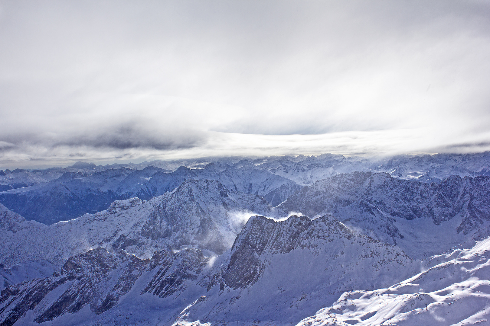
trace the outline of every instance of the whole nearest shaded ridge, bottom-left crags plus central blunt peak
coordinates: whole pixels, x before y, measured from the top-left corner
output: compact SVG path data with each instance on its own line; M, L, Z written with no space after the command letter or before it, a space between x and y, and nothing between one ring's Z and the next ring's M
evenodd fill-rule
M164 249L147 260L103 248L75 255L58 274L5 288L0 321L171 325L187 307L187 321L288 325L345 290L387 286L418 269L400 249L358 236L334 217L256 216L217 258L191 248ZM162 309L138 308L148 302Z

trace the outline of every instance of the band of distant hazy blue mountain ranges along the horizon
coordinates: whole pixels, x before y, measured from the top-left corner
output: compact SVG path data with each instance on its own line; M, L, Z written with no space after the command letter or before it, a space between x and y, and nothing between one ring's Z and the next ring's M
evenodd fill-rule
M0 203L45 224L107 209L116 199L150 199L186 179L216 179L229 190L264 197L277 206L314 182L336 174L387 172L392 176L439 183L451 175L490 174L488 153L395 156L385 159L315 156L208 157L96 166L77 162L67 168L0 171Z

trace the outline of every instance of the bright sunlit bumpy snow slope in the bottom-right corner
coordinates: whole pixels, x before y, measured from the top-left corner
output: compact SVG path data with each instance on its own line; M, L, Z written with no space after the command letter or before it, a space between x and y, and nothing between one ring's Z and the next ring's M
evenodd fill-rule
M388 288L344 293L298 326L490 325L490 238Z

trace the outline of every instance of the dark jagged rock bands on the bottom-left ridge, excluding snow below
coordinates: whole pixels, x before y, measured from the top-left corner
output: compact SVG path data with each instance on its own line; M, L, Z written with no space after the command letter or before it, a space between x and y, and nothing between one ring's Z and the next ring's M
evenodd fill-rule
M167 297L184 290L185 281L196 280L207 259L199 249L178 253L157 251L151 260L141 260L124 251L114 255L103 248L94 249L70 258L59 274L3 289L0 325L13 325L27 310L36 308L51 291L62 285L64 287L54 301L44 303L36 310L36 323L75 313L87 304L93 312L100 314L118 304L144 271L153 269L157 272L143 293Z

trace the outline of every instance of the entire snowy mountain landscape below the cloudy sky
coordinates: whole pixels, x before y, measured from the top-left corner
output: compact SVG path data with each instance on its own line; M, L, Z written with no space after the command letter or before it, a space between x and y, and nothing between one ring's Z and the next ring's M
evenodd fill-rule
M0 185L2 326L489 324L489 153L76 162Z

